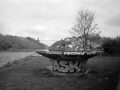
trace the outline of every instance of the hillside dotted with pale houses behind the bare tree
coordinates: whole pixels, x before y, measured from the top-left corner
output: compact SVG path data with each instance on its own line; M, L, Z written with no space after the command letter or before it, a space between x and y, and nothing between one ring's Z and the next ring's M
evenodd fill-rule
M99 42L99 40L98 40ZM97 41L89 41L87 51L102 49L101 45ZM76 37L67 37L63 40L57 41L52 44L49 50L57 51L84 51L82 38L78 39Z

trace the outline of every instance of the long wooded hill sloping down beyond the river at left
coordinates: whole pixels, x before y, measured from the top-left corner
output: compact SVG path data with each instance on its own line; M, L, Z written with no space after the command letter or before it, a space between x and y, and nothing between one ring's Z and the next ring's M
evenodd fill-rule
M0 34L0 51L21 49L45 49L46 45L31 37Z

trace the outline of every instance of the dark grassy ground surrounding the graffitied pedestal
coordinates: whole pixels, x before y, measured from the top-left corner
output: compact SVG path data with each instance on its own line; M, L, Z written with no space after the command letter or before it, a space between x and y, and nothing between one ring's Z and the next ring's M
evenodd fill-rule
M8 62L0 68L0 90L115 90L118 85L120 57L89 59L86 67L101 73L87 79L54 75L45 68L50 65L49 59L41 56Z

